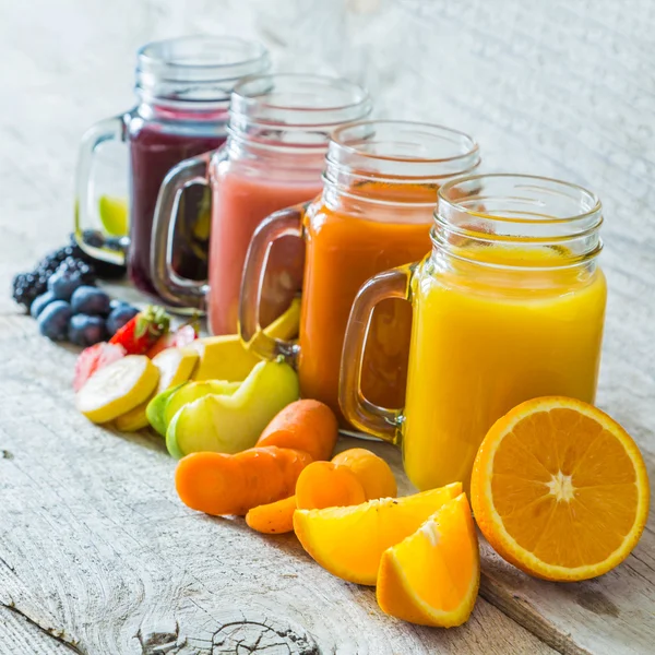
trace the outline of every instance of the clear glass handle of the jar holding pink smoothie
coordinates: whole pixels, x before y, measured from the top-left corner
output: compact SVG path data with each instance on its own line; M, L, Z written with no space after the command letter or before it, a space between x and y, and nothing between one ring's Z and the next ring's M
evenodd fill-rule
M174 166L162 182L151 240L151 277L159 297L170 307L205 310L209 290L206 279L189 279L172 269L172 237L180 198L187 187L210 186L210 162L213 152L190 157Z

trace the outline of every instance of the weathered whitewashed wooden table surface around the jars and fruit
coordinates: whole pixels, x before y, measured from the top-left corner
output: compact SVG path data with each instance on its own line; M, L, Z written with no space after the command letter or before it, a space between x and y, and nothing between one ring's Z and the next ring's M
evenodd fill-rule
M528 9L510 11L504 0L509 14L498 4L489 13L481 1L467 3L462 15L453 9L458 3L329 4L312 2L303 12L307 5L293 0L248 8L188 2L186 9L156 0L5 3L0 287L63 242L76 142L85 126L129 106L135 45L180 29L231 31L242 21L243 31L259 31L276 46L282 61L310 52L312 61L367 81L388 111L438 114L440 122L469 130L491 167L553 172L600 192L610 302L598 402L638 440L655 480L651 5L638 2L627 15L607 1L585 16L563 2L531 5L529 15ZM193 14L199 8L205 22ZM353 31L344 52L354 55L335 59L331 23L319 38L323 23L314 26L312 12L355 26L366 19L371 31ZM495 40L508 15L513 53ZM561 29L562 40L548 40L549 29ZM584 47L561 46L579 37ZM440 68L437 80L440 38L460 68ZM611 56L603 59L598 43ZM594 61L600 72L583 80ZM403 75L385 78L380 62ZM553 75L553 67L569 78ZM493 76L499 70L502 80ZM526 88L535 102L526 102ZM480 597L468 623L409 626L382 615L372 590L323 571L293 536L265 538L240 519L182 507L171 481L175 463L160 439L111 432L76 414L74 357L38 336L34 321L2 293L0 654L655 652L652 516L622 565L579 584L531 579L483 546ZM401 476L397 453L376 450Z

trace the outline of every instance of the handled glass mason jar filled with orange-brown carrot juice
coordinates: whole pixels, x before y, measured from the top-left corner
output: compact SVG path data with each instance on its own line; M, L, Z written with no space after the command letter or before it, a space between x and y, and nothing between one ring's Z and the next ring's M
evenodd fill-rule
M322 194L273 214L252 238L241 290L241 337L265 358L282 354L294 360L301 394L341 414L342 345L359 287L371 275L428 252L439 187L479 163L471 136L439 126L380 120L336 130ZM260 319L267 252L291 235L306 250L298 344L271 338ZM397 301L381 303L371 320L362 386L386 407L403 404L410 324L409 307Z

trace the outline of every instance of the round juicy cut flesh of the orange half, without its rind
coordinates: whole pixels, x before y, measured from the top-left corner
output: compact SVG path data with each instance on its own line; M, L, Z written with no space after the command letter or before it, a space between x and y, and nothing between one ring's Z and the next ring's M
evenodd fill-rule
M636 514L636 475L621 443L565 408L516 424L496 453L491 489L505 529L548 564L604 561Z

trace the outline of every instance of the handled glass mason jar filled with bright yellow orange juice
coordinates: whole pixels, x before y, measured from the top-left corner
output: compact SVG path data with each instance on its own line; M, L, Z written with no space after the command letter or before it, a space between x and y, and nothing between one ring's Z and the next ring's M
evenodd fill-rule
M468 488L491 425L544 395L594 402L606 303L596 195L531 176L444 184L432 250L370 278L353 306L340 402L360 430L402 443L419 489ZM362 353L380 302L408 300L414 318L405 405L366 396ZM370 335L370 330L368 331Z

